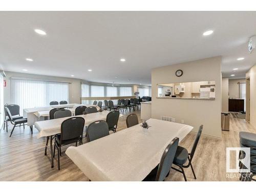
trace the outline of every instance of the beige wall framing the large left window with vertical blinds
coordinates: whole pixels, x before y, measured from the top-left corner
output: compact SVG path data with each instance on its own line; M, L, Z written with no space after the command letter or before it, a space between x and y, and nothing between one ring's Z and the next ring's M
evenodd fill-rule
M6 79L7 86L4 87L4 103L11 103L11 77L71 82L70 103L80 103L80 95L81 95L80 79L53 77L53 76L46 76L46 75L34 75L34 74L28 74L28 73L16 73L16 72L9 72L9 71L5 71L5 73L6 73L5 79Z

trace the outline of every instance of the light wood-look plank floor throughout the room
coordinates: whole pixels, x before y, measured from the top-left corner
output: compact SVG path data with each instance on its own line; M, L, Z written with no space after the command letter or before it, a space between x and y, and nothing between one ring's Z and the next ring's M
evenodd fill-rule
M140 112L135 112L140 119ZM126 129L127 114L119 118L118 129ZM9 130L11 125L9 125ZM222 132L222 139L202 136L193 159L193 166L197 175L194 179L190 168L185 169L188 181L236 181L237 178L226 178L226 147L239 146L239 132L256 130L244 119L230 118L230 131ZM80 169L65 154L62 149L60 170L57 160L54 168L50 166L50 156L44 155L46 138L36 138L37 130L33 135L29 127L17 127L9 138L10 131L0 131L0 181L88 181ZM195 134L189 134L180 143L190 151ZM84 142L86 140L84 139ZM118 143L117 143L118 144ZM48 152L48 154L50 154ZM136 173L135 173L136 174ZM183 181L181 173L171 170L166 181Z

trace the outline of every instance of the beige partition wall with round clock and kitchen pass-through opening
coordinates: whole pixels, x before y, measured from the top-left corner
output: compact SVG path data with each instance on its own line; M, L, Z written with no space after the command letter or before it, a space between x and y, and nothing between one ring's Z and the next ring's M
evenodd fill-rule
M181 69L183 75L175 72ZM157 97L157 84L172 82L193 82L215 80L216 99L160 99ZM179 63L152 70L152 118L161 115L174 117L176 122L194 126L197 132L204 125L203 134L221 138L221 57Z

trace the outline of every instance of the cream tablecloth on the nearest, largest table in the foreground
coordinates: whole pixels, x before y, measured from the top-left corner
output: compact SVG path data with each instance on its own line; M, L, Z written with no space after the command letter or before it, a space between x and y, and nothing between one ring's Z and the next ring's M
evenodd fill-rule
M166 146L175 137L180 141L192 126L148 119L143 132L135 125L120 132L80 145L66 154L92 181L141 181L160 162Z

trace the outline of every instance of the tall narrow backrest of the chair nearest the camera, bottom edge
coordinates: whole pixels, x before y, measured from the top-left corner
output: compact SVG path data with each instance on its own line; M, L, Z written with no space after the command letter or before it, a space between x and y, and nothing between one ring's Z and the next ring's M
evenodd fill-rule
M163 181L172 167L174 157L179 144L179 138L175 137L165 148L158 165L156 181Z

